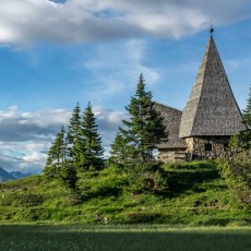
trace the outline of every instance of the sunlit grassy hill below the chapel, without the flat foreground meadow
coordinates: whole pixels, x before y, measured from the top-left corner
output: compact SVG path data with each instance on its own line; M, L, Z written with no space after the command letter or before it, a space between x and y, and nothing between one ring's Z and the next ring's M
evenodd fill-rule
M82 172L77 193L32 176L0 184L0 223L251 225L251 210L231 194L216 164L165 165L168 190L133 193L128 176L109 167Z

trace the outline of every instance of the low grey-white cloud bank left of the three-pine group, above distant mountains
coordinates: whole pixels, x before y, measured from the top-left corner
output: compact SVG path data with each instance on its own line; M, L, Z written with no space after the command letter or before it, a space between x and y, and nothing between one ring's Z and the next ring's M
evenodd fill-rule
M0 166L7 170L40 171L46 153L71 111L20 112L17 106L0 110Z

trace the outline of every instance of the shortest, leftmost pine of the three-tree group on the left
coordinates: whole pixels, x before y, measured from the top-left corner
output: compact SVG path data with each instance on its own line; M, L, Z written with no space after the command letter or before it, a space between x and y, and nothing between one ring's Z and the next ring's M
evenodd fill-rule
M46 162L46 167L44 172L48 177L55 177L59 172L59 169L62 167L65 160L65 131L64 127L61 125L61 130L57 133L55 142L48 152L48 157Z

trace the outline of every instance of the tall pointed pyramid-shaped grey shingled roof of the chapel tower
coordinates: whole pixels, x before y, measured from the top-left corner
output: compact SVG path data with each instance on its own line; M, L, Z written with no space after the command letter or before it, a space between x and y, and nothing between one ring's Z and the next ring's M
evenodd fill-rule
M182 112L179 136L234 135L246 129L241 121L240 109L211 34Z

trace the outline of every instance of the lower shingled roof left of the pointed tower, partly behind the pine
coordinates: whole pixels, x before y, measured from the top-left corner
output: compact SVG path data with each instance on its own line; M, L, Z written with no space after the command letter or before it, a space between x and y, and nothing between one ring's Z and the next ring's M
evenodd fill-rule
M183 139L179 139L179 127L182 111L155 103L155 108L164 117L164 124L169 132L168 141L159 144L158 148L187 148Z

